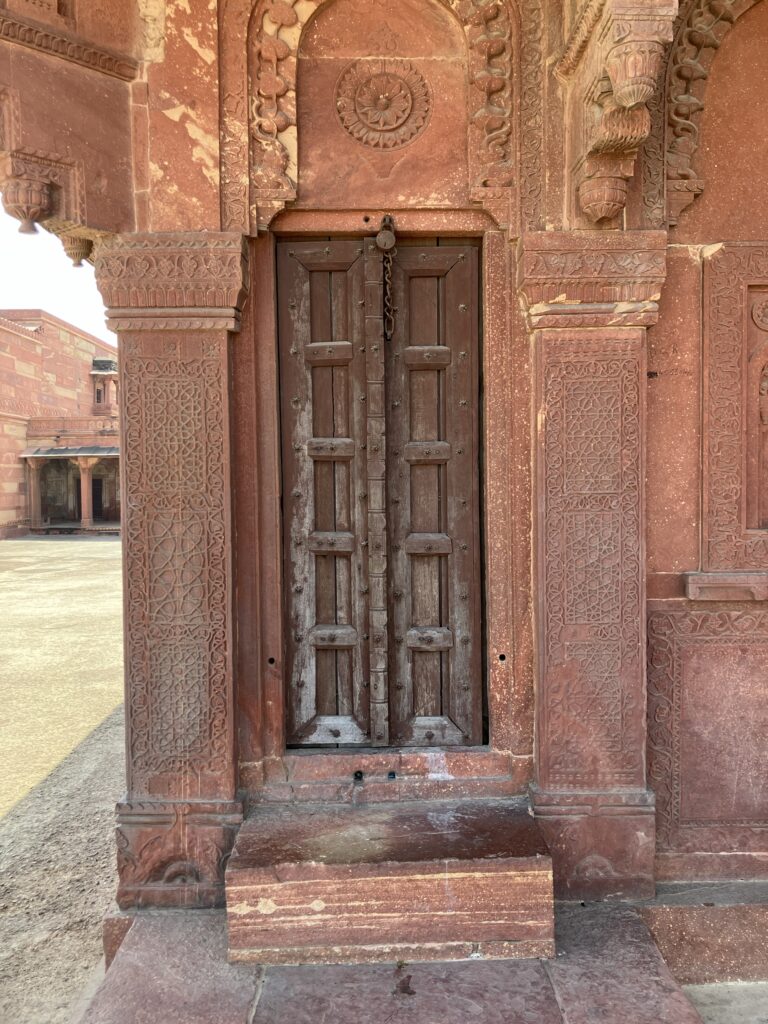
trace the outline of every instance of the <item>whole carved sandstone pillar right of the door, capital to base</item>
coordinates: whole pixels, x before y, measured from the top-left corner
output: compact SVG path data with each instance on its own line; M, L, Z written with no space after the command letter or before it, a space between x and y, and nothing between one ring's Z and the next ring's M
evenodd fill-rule
M663 232L528 236L537 366L537 817L570 898L653 891L645 775L645 327Z

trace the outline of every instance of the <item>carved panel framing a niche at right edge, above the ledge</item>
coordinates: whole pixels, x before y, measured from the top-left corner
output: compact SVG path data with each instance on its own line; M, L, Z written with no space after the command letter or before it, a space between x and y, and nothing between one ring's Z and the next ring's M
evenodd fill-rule
M761 518L767 289L765 246L729 244L705 263L705 569L768 569Z

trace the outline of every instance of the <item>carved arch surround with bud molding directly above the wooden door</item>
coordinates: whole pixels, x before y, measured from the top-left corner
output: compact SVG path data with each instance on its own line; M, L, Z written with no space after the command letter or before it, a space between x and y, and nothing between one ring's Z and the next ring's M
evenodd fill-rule
M219 8L222 223L256 233L296 197L296 72L301 36L331 0L228 0ZM537 226L542 198L539 0L436 0L470 53L470 186L510 228ZM517 197L520 203L517 202Z

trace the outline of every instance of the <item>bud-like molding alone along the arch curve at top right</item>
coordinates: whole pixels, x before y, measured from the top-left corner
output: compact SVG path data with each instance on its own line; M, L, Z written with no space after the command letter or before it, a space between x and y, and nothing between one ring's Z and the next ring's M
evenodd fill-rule
M662 109L666 114L662 131L666 131L667 217L670 224L676 224L682 211L703 191L705 182L694 165L712 63L736 22L760 2L692 0L681 12L668 66L666 109ZM655 206L664 210L658 198ZM658 222L657 216L654 219Z

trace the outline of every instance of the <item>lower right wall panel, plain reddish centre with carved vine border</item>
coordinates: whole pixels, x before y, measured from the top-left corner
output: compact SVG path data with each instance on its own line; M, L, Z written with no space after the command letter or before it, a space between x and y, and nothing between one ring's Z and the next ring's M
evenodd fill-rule
M653 608L648 773L659 850L768 849L768 612Z

